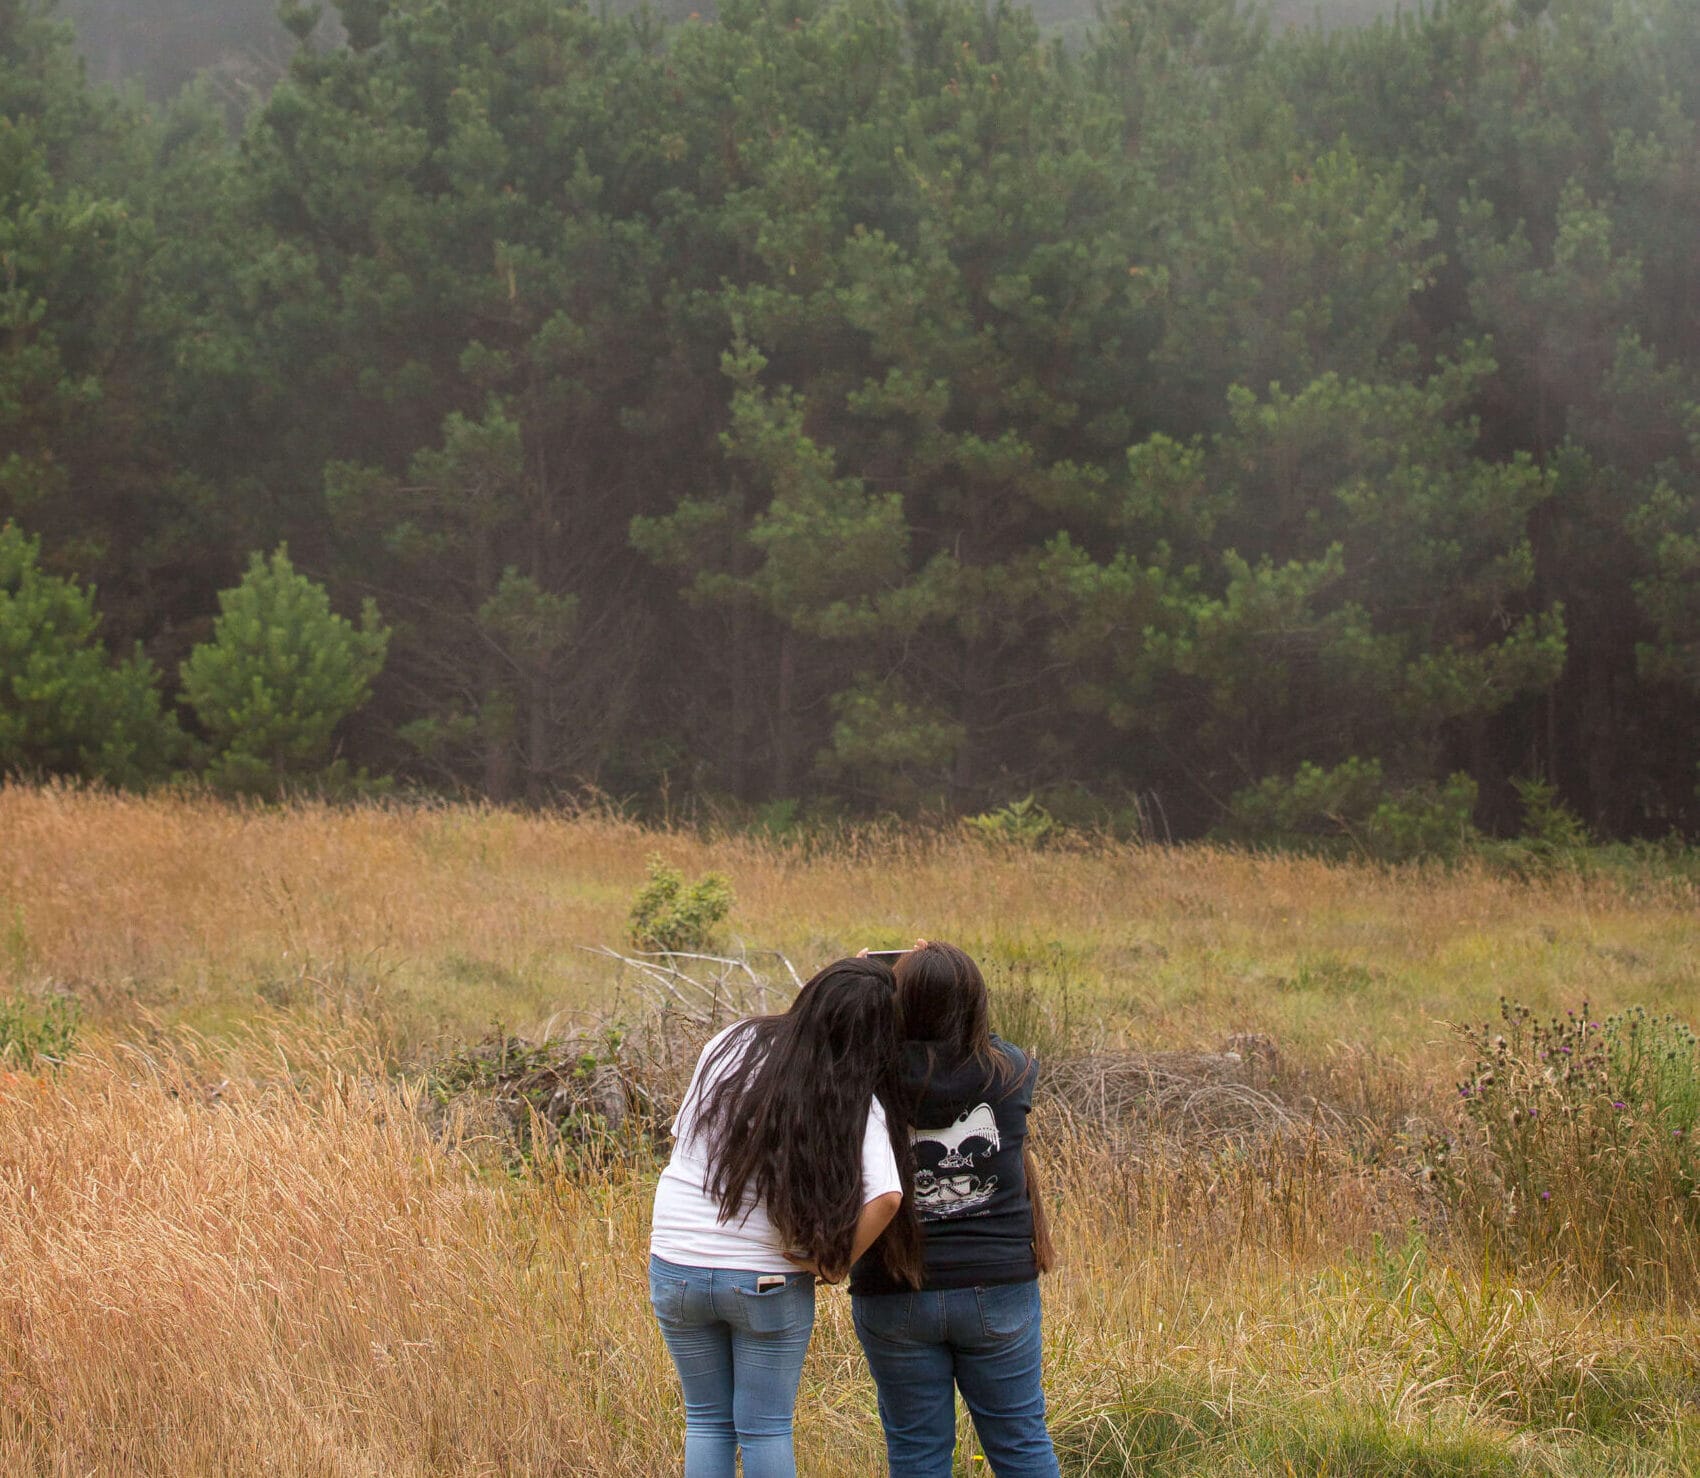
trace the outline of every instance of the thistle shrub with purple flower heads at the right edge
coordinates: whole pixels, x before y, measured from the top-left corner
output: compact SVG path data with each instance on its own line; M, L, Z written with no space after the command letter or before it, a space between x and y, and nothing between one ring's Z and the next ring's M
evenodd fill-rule
M1634 1007L1459 1027L1476 1051L1459 1099L1479 1158L1457 1177L1491 1240L1595 1286L1700 1271L1700 1051L1686 1022Z

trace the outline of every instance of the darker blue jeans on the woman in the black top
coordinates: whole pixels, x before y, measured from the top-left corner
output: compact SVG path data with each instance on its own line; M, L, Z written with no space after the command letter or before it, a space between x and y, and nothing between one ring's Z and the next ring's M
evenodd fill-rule
M1039 1384L1039 1282L852 1298L892 1478L950 1478L955 1391L998 1478L1057 1478Z

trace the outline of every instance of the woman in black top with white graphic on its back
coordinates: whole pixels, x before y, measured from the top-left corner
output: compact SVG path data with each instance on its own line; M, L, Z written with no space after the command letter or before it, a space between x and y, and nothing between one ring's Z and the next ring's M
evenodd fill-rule
M850 1274L886 1456L901 1478L949 1478L960 1390L998 1478L1057 1478L1023 1167L1039 1065L991 1034L986 981L955 946L920 941L896 978L921 1286L876 1255Z

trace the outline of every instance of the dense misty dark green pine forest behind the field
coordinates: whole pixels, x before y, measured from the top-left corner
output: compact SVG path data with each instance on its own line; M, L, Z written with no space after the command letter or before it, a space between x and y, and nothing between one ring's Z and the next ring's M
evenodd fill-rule
M0 519L190 742L287 541L411 782L1700 825L1700 7L294 14L233 134L0 0Z

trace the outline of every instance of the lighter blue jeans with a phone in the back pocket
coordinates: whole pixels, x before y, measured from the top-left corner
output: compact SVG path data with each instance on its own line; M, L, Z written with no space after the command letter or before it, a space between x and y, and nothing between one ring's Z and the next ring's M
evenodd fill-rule
M814 1330L814 1277L649 1259L649 1303L685 1388L685 1478L796 1478L790 1417Z

